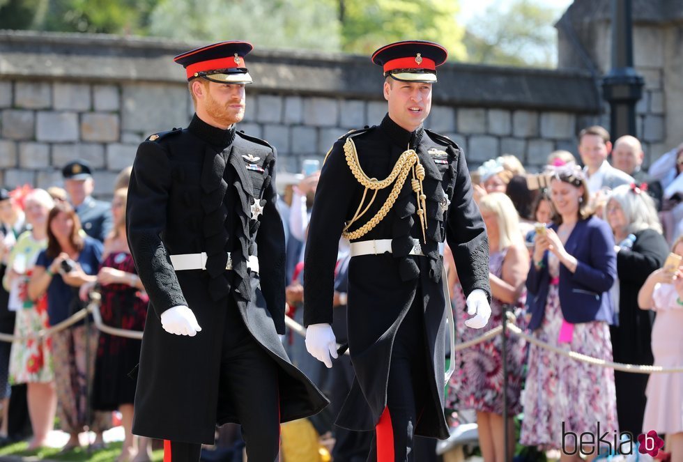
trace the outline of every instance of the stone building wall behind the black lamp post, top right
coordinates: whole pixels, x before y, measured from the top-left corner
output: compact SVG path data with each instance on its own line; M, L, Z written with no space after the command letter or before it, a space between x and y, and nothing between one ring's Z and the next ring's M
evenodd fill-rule
M636 105L636 137L646 163L683 141L683 2L633 0L634 67L645 79ZM574 0L557 24L560 68L611 68L611 0ZM603 123L609 127L609 107Z

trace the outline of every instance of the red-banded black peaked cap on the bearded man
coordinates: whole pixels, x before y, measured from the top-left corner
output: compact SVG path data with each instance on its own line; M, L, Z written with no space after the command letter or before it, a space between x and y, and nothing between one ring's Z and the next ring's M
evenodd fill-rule
M173 60L185 68L187 80L203 77L219 84L251 84L244 57L253 48L249 42L231 40L192 49Z

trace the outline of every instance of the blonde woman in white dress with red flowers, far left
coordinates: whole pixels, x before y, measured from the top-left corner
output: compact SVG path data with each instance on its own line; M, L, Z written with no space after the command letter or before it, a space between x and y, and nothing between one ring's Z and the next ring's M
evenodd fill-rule
M24 199L26 221L31 231L19 236L10 253L7 272L3 279L10 291L11 303L17 309L14 334L25 337L48 327L47 298L31 300L27 284L33 265L41 250L47 247L47 215L54 201L45 190L33 190ZM47 433L52 430L57 396L54 390L54 369L52 367L52 339L27 339L15 341L10 353L10 382L26 383L26 400L29 405L33 439L29 449L43 445Z

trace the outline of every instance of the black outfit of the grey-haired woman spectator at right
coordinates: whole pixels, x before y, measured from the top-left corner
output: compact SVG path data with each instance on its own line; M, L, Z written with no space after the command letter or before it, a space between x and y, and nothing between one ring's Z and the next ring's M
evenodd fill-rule
M610 326L610 337L615 362L649 365L654 362L650 348L654 311L638 308L638 291L650 273L661 268L669 250L661 233L653 229L638 231L635 236L630 250L617 252L619 319L618 325ZM620 431L643 432L648 378L647 374L614 371Z

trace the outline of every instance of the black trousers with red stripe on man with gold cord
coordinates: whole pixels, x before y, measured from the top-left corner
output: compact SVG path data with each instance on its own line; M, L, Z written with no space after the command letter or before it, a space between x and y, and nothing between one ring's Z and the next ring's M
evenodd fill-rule
M392 349L387 407L376 426L368 462L422 462L415 458L415 426L424 408L428 374L422 307L413 304Z

